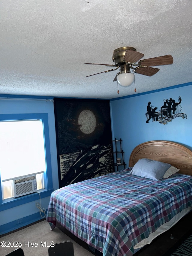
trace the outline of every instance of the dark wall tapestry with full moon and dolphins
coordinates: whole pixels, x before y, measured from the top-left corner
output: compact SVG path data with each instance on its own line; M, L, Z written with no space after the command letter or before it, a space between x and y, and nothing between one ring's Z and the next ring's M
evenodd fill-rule
M109 100L54 98L59 188L113 172Z

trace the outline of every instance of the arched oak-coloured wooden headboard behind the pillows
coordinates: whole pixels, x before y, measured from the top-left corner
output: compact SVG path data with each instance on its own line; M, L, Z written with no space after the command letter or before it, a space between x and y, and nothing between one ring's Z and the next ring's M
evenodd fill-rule
M131 152L129 166L133 167L141 158L169 163L180 169L179 173L192 175L192 151L181 144L166 140L144 142Z

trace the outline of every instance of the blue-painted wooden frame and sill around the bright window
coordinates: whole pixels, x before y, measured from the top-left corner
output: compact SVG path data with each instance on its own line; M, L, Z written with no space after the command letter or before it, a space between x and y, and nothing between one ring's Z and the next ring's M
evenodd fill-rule
M41 194L41 198L48 197L53 191L52 185L52 167L51 167L51 151L50 151L50 140L49 140L49 123L48 123L48 113L30 113L30 114L0 114L1 121L11 121L11 120L35 120L42 119L43 130L44 130L44 143L45 143L45 159L46 159L46 171L44 173L44 184L45 189L38 190ZM0 173L1 180L1 173ZM2 189L0 182L0 206L1 211L19 206L25 203L29 203L39 199L38 193L32 193L16 198L8 198L2 200Z

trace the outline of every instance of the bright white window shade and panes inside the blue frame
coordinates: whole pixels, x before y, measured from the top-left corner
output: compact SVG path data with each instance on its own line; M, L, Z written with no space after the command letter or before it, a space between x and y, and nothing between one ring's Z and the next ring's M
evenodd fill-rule
M44 188L41 173L46 170L46 164L42 119L1 121L0 145L3 199L13 197L13 179L16 177L30 177L35 173L37 189ZM23 186L27 184L29 182ZM30 192L30 188L25 190Z

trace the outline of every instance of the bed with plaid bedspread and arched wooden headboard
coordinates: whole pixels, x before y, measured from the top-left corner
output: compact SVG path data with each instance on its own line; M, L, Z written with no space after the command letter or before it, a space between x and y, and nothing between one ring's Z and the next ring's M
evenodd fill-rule
M143 159L180 171L158 180L131 174ZM132 151L129 166L54 191L46 218L52 229L58 222L103 256L131 256L191 210L190 149L145 142Z

